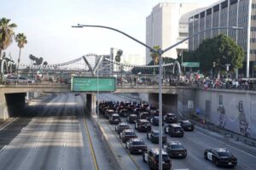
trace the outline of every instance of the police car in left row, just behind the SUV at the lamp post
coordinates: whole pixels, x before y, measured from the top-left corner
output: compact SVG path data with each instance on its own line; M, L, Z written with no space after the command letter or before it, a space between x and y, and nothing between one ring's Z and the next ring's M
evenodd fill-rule
M125 148L129 150L131 154L142 154L144 151L148 150L143 139L130 139L126 142Z

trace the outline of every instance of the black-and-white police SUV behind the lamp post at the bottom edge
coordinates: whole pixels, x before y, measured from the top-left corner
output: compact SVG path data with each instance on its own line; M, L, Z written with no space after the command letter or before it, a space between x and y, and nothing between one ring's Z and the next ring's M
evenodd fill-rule
M159 167L159 148L152 148L143 152L143 161L148 163L149 169L158 169ZM162 150L162 166L163 169L171 169L172 160L165 150Z

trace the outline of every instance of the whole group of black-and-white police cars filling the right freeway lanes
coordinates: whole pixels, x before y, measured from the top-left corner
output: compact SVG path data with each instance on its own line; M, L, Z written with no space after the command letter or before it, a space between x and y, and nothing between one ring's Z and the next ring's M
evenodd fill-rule
M148 162L150 169L158 169L159 149L148 149L143 139L137 137L137 134L131 129L130 124L134 124L138 132L146 132L147 139L152 143L159 143L159 131L154 130L153 126L159 126L159 111L146 103L135 102L113 102L102 101L99 105L99 111L111 124L116 124L115 131L119 134L119 139L125 143L125 148L131 154L142 154L143 161ZM126 117L126 122L121 122L121 116ZM183 137L184 131L193 131L194 125L189 120L182 120L177 123L177 116L173 113L163 113L164 132L171 137ZM167 136L162 135L163 169L172 167L171 158L184 158L187 156L187 150L178 141L167 141ZM237 159L229 150L217 148L207 149L204 152L206 160L212 161L217 167L235 167Z

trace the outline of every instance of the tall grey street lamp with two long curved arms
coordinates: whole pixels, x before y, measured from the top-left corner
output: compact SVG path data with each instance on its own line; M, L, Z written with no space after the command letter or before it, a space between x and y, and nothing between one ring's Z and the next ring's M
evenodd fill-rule
M130 35L126 34L123 31L119 31L118 29L115 29L113 27L109 27L109 26L97 26L97 25L80 25L78 24L77 26L72 26L74 28L83 28L83 27L98 27L98 28L105 28L108 30L112 30L112 31L117 31L123 35L125 35L125 37L129 37L131 38L133 41L140 43L141 45L143 45L144 47L148 48L149 50L151 50L154 53L159 54L159 124L162 124L162 81L161 81L161 77L162 77L162 54L166 53L166 51L176 47L178 44L185 42L187 40L189 40L191 37L195 37L196 35L200 34L201 32L205 32L205 31L210 31L210 30L215 30L215 29L235 29L235 30L240 30L243 29L242 27L237 27L237 26L226 26L226 27L212 27L212 28L207 28L206 30L203 31L198 31L193 35L190 35L189 37L184 38L182 41L177 42L175 44L173 44L172 46L170 46L169 48L166 49L162 49L159 48L158 50L155 50L154 48L149 47L147 44L137 40L135 37L131 37ZM159 162L162 162L162 126L159 126ZM162 169L162 163L159 163L159 169Z

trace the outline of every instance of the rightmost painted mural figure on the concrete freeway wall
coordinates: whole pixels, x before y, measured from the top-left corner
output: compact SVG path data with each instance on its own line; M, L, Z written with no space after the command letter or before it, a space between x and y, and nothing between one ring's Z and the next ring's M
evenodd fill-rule
M239 111L239 129L240 129L240 133L243 136L249 137L250 136L250 127L249 127L249 124L247 122L245 112L243 110L242 101L239 101L239 105L237 105L237 109Z

